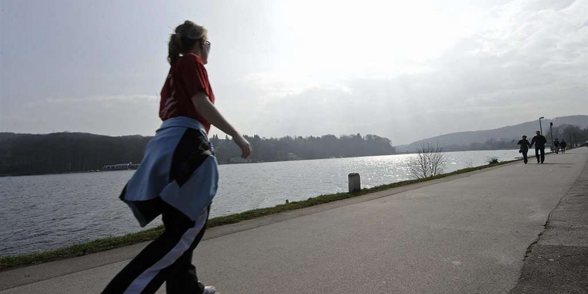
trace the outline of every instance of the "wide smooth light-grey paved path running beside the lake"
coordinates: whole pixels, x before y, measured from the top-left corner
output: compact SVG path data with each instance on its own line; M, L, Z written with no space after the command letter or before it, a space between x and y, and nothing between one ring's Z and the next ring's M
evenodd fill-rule
M509 293L523 286L523 264L533 268L539 249L524 261L527 249L586 247L573 232L537 240L550 213L567 218L560 201L588 177L587 162L579 148L544 165L517 162L214 228L195 263L223 294ZM0 293L99 293L142 246L2 272Z

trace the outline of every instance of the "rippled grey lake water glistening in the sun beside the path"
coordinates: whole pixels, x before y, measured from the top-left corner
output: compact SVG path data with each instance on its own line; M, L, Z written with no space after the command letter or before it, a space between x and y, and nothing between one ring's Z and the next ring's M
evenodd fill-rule
M519 156L517 150L447 152L445 172ZM348 174L362 188L410 179L414 155L367 156L220 165L211 217L346 192ZM141 228L118 196L134 171L0 178L0 256L56 249L137 232ZM146 228L161 224L158 218Z

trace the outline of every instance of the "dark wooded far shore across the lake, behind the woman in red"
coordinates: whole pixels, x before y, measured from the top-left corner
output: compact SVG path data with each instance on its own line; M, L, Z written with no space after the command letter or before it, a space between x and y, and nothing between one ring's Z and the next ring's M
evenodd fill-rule
M44 135L0 133L0 175L35 175L102 169L116 163L139 163L150 136L103 136L91 133ZM390 155L387 138L333 135L263 138L245 136L253 146L248 162ZM228 137L212 136L219 163L240 162L239 148Z

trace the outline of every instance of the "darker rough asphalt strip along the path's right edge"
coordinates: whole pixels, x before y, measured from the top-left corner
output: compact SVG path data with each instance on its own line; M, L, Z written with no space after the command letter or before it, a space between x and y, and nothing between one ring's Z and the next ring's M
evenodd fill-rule
M588 163L530 246L510 293L588 293Z

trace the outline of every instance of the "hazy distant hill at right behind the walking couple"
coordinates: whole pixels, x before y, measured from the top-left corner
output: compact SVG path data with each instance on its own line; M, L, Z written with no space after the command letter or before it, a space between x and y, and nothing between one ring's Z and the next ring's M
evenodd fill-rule
M553 119L542 119L541 122L544 134L549 132L550 122L553 122L553 126L576 125L580 126L580 128L588 128L588 115L560 116ZM512 140L518 140L522 135L532 137L535 131L539 131L538 120L520 123L519 125L504 126L498 129L448 133L446 135L422 139L407 145L396 146L396 152L413 152L417 146L425 142L438 142L442 146L470 145L472 143L485 143L489 140L509 142Z

